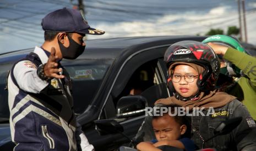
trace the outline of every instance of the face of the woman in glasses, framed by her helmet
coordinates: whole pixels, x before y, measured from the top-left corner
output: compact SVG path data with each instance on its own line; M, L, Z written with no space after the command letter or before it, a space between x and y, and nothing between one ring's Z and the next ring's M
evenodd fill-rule
M194 68L188 65L177 65L173 70L175 75L198 75L198 72ZM176 92L183 97L194 96L198 92L197 77L194 77L193 82L187 82L184 77L179 82L172 82Z

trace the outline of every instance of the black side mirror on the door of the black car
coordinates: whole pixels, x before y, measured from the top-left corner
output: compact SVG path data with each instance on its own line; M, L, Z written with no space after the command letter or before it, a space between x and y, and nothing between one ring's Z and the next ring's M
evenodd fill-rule
M117 118L130 118L145 114L146 98L140 95L123 96L117 102Z

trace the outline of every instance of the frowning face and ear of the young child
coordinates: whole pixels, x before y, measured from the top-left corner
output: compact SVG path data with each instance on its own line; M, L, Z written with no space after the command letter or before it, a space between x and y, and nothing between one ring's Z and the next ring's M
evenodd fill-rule
M179 137L186 132L186 126L181 126L175 121L175 118L168 114L164 114L160 118L153 119L152 126L154 128L157 141L178 140Z

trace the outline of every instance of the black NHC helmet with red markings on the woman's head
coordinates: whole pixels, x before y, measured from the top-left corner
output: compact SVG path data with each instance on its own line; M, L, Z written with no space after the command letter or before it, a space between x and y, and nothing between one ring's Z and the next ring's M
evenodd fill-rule
M215 89L220 73L220 60L209 45L192 40L177 42L167 48L164 61L167 68L175 62L195 63L204 67L204 72L198 76L198 88L200 91Z

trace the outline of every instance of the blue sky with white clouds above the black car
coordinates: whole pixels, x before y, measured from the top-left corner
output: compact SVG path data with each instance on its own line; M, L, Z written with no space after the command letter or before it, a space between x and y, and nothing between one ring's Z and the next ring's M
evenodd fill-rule
M53 10L72 8L77 0L1 0L0 54L43 43L41 19ZM84 0L85 17L102 36L87 39L205 35L210 28L239 26L235 0ZM248 43L256 45L256 0L246 0Z

